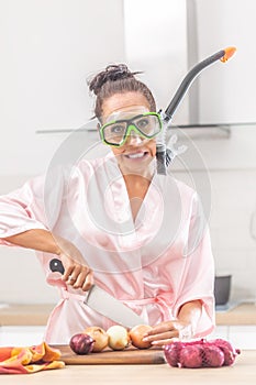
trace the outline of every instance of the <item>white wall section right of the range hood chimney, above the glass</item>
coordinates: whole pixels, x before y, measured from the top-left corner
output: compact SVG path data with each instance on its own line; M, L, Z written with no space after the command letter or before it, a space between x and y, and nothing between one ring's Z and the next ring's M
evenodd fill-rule
M227 46L237 48L234 58L198 78L200 122L255 122L255 0L189 1L197 9L201 59Z

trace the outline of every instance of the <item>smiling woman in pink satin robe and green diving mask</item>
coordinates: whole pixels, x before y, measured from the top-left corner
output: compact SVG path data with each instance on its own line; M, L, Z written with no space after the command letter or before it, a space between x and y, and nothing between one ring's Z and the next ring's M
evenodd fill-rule
M37 251L47 282L59 288L49 343L113 324L82 304L92 282L153 326L145 339L155 345L213 329L213 258L200 204L191 188L156 173L162 121L136 74L108 66L89 85L110 154L34 178L0 200L1 243ZM56 256L63 276L48 267Z

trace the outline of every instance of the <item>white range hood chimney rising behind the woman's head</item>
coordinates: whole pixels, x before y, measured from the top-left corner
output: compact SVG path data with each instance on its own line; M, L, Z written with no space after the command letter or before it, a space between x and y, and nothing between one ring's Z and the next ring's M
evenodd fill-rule
M165 110L188 72L186 0L124 0L125 55L129 65ZM188 98L174 123L188 123Z

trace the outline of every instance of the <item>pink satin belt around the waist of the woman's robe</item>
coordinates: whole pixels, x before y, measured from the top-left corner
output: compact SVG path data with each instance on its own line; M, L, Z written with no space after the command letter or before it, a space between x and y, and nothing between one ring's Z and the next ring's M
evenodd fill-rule
M60 288L60 294L63 299L75 299L80 300L85 302L85 295L70 293L65 288ZM164 292L158 294L155 297L147 297L147 298L140 298L140 299L119 299L124 305L135 305L135 306L145 306L145 305L152 305L156 304L159 305L159 309L162 315L164 316L164 320L170 320L174 319L171 316L171 307L174 306L174 302L171 301L171 295L172 292ZM130 306L129 306L130 307Z

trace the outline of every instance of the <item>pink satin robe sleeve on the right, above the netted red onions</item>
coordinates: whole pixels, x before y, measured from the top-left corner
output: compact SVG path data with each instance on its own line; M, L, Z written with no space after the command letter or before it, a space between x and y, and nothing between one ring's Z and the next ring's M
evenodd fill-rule
M186 263L179 295L172 309L174 316L177 317L183 304L201 300L202 314L194 337L204 337L212 332L215 324L214 260L208 223L197 195L192 199L189 237L183 257Z

